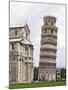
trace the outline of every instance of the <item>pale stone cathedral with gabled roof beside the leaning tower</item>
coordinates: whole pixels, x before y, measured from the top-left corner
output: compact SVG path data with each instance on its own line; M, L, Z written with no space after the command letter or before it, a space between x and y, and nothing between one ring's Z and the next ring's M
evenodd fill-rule
M33 81L33 45L28 25L9 28L9 83Z

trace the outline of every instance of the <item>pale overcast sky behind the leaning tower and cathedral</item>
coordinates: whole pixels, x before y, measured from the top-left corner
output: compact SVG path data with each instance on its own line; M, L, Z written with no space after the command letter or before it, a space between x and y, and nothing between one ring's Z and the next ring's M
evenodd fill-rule
M39 64L41 26L44 24L43 17L51 15L57 18L57 67L65 67L65 6L57 4L38 3L10 3L10 26L29 25L30 39L34 45L34 66Z

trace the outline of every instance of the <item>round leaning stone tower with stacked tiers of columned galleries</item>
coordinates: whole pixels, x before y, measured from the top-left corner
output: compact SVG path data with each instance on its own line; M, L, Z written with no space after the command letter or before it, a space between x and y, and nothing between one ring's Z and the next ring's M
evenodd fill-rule
M57 27L56 18L44 17L41 30L39 80L56 80Z

